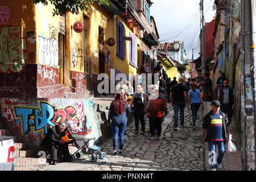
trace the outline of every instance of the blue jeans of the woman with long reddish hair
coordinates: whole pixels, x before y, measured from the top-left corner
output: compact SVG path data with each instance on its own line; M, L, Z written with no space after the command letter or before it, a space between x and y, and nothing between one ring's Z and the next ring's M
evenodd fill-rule
M123 120L112 121L113 150L117 150L117 140L119 134L119 149L123 149L123 134L125 133L127 122Z

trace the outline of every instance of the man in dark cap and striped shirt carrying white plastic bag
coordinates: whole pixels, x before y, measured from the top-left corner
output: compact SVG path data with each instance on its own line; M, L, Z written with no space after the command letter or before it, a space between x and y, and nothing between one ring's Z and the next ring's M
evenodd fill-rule
M220 102L214 100L210 105L212 105L212 110L205 115L203 121L202 139L203 142L208 142L209 158L212 158L212 171L216 171L217 168L221 168L222 166L221 163L225 154L225 143L228 139L226 133L228 132L230 140L232 140L232 135L226 114L220 111ZM217 164L215 163L216 145L218 146Z

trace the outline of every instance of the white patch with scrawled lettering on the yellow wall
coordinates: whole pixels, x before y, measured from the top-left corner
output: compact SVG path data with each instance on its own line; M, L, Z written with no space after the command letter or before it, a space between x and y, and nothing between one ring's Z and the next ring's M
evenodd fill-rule
M56 39L39 37L38 63L57 67L59 64L59 48Z

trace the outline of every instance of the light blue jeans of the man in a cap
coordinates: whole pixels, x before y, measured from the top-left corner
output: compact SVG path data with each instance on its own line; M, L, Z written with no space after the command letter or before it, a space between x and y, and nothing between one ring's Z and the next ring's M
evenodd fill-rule
M217 163L220 164L222 162L222 159L225 154L225 146L224 141L210 141L208 142L208 148L209 148L209 162L212 165L212 168L217 168L217 164L215 163L216 158L216 145L218 145L218 157L217 157ZM212 159L212 160L210 160Z

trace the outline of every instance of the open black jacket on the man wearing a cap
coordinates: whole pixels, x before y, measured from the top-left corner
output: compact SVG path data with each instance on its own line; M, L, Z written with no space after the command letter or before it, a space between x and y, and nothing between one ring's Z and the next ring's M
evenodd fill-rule
M222 117L223 117L223 124L222 124L222 137L224 138L224 144L226 143L227 139L228 139L228 135L227 135L227 130L226 127L229 126L228 124L228 118L226 117L226 114L222 113L220 111ZM212 115L212 110L209 111L209 113L207 113L204 117L204 121L203 121L203 129L206 129L206 133L205 133L205 142L209 142L211 135L210 135L210 115Z

